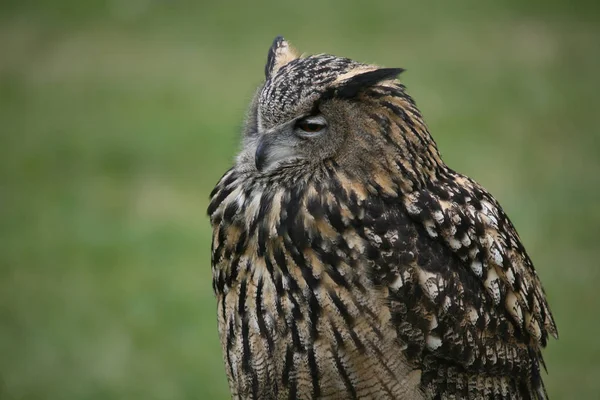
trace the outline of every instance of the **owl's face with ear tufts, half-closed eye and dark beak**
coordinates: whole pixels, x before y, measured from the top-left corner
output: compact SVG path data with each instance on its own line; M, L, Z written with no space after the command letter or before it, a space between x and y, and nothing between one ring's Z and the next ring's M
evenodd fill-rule
M324 160L343 157L348 140L366 129L361 121L368 119L368 102L357 101L358 94L399 72L327 54L301 58L283 38L275 39L238 165L256 174L290 167L310 173Z

